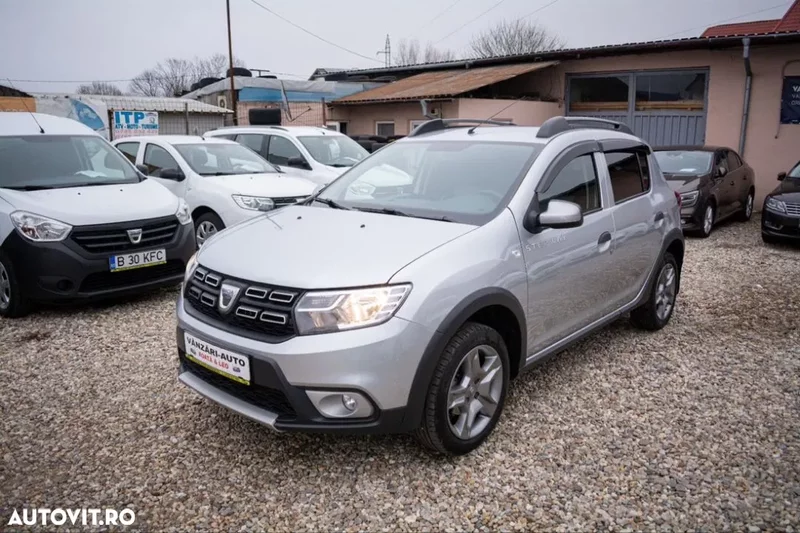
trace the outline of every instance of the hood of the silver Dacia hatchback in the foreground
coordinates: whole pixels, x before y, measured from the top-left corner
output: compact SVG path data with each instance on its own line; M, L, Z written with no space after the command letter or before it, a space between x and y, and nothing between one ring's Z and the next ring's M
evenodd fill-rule
M476 227L290 206L219 233L197 258L211 270L283 287L380 285L415 259Z

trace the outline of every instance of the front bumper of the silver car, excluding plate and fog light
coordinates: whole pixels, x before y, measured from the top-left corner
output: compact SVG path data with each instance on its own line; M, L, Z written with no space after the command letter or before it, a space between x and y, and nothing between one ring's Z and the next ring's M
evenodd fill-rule
M392 318L380 326L265 343L231 334L177 308L181 383L228 409L278 431L404 433L418 417L407 412L412 382L435 333ZM251 385L219 376L185 357L184 332L249 356ZM372 413L365 418L328 418L307 391L356 392Z

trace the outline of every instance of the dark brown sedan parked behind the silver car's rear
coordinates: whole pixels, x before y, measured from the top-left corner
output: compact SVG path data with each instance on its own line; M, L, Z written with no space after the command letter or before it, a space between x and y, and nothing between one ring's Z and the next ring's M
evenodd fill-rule
M714 224L730 216L742 222L753 214L753 169L730 148L670 146L655 149L667 183L681 195L685 232L708 237Z

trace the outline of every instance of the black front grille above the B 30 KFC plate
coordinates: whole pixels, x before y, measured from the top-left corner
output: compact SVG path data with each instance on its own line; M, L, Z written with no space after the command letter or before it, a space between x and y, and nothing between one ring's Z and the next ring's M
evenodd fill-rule
M72 230L70 238L87 252L112 254L169 244L175 238L178 226L178 219L175 217L120 224L78 226ZM142 230L142 238L141 241L134 244L128 236L128 230L136 229Z

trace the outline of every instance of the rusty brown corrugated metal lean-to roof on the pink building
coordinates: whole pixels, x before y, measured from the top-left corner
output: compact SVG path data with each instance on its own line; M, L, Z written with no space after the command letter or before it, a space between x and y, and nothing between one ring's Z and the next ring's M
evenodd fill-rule
M508 80L534 70L555 65L557 61L522 63L502 67L423 72L393 83L335 100L336 104L360 104L421 98L447 98L487 85Z

